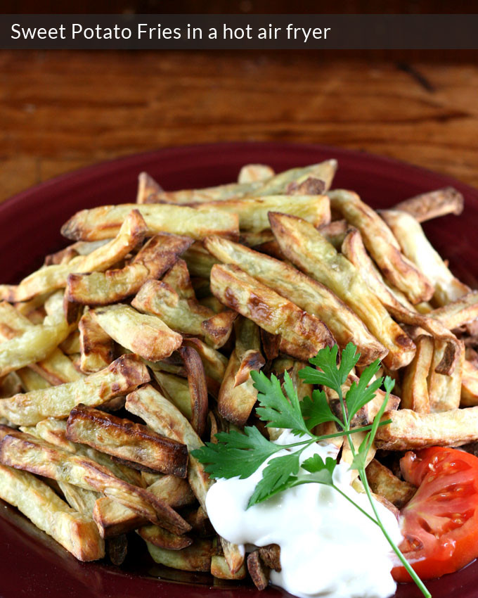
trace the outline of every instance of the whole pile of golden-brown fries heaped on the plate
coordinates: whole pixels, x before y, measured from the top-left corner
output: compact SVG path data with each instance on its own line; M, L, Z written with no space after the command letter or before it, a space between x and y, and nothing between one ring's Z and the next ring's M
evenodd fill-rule
M185 191L143 173L136 203L78 212L70 246L0 286L0 497L82 561L121 564L134 531L164 566L265 587L279 547L246 560L217 537L190 451L245 424L277 438L250 372L288 371L310 395L298 371L336 343L358 348L355 374L380 358L396 381L367 469L389 508L415 492L403 451L474 450L478 292L420 226L463 198L441 189L377 212L330 190L336 168L246 165L237 183Z

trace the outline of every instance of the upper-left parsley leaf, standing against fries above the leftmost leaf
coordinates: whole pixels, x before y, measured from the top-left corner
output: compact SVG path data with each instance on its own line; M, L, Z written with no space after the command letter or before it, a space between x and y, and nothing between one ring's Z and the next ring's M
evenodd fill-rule
M285 397L280 381L271 375L267 378L263 371L251 371L254 388L257 388L257 400L260 407L256 413L262 421L267 421L266 426L272 428L291 428L295 434L309 433L300 410L299 397L294 388L288 372L284 374Z

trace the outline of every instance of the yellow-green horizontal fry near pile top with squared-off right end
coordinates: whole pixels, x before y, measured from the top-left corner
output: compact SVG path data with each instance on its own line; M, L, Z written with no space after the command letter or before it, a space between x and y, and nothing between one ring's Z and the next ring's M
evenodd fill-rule
M316 227L330 222L330 202L324 195L269 195L227 199L199 204L190 204L198 210L219 210L239 217L241 231L260 232L269 229L269 212L283 212L298 215Z

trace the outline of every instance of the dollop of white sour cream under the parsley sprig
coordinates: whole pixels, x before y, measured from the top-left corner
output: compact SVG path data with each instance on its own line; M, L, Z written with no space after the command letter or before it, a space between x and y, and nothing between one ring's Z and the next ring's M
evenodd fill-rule
M297 440L290 431L284 431L276 443ZM337 447L311 445L302 453L301 462L314 453L324 460L335 458ZM318 483L299 485L247 509L266 464L250 478L220 479L209 489L207 513L217 533L243 551L245 545L278 544L282 571L271 571L271 583L300 598L392 596L396 590L390 573L394 561L385 535L334 488ZM373 515L366 495L351 487L347 464L337 465L333 480ZM394 514L379 502L375 507L392 540L399 544L402 537Z

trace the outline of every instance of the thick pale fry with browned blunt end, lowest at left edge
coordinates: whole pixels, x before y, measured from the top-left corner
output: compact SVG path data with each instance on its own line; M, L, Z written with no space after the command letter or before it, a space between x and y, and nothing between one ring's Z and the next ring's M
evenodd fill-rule
M105 545L90 518L71 509L31 473L0 465L0 497L80 561L105 556Z

